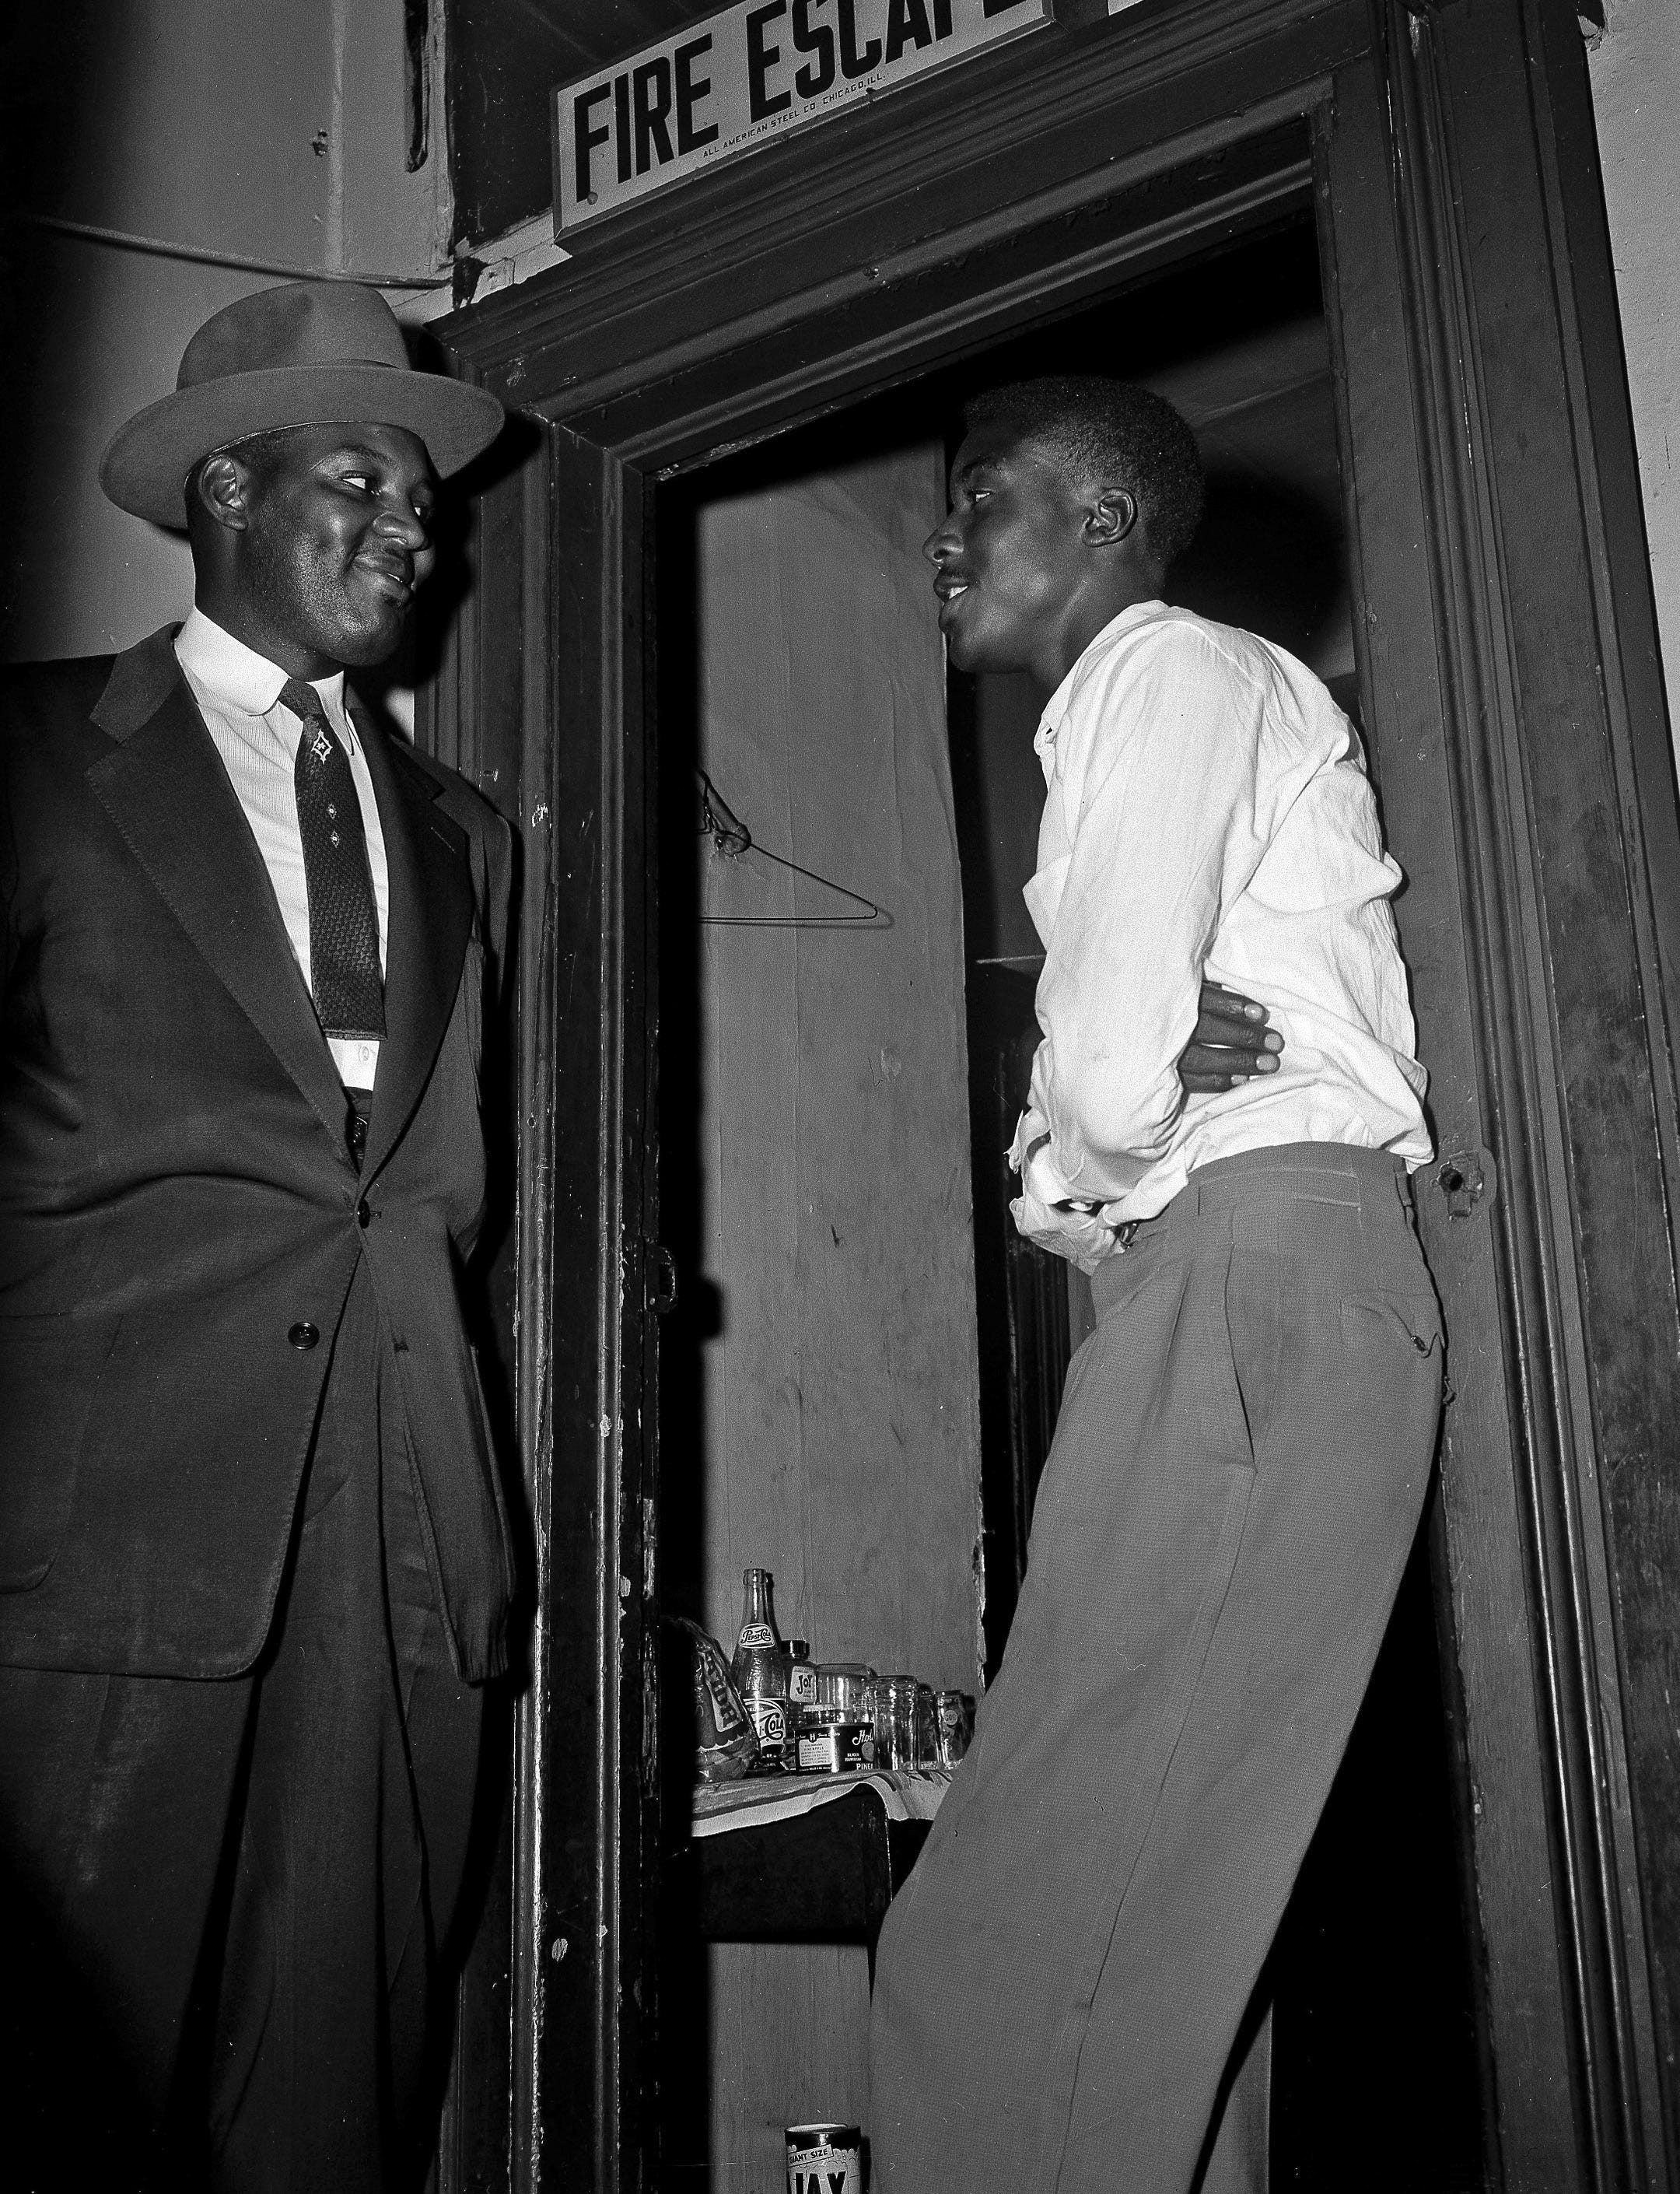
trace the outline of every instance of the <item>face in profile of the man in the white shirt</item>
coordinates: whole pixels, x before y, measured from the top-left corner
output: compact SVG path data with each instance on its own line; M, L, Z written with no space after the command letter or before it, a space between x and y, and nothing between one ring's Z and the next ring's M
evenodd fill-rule
M1026 669L1086 577L1083 507L1031 437L976 428L952 465L952 509L923 542L939 630L963 671Z

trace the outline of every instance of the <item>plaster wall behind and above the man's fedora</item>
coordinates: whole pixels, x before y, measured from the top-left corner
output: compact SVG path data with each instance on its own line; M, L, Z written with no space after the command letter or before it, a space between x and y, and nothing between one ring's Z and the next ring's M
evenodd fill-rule
M430 272L443 160L434 143L408 173L401 37L401 0L68 0L24 37L2 369L22 522L0 562L0 658L99 654L184 614L184 542L105 502L99 454L173 388L202 320L285 279L29 215L276 270Z

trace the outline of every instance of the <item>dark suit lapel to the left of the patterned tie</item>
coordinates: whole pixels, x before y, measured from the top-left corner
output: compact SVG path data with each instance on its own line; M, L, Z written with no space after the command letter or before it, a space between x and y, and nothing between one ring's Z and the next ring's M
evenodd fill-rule
M171 641L169 627L156 632L112 669L94 722L118 744L88 770L88 785L342 1150L342 1084L263 856Z

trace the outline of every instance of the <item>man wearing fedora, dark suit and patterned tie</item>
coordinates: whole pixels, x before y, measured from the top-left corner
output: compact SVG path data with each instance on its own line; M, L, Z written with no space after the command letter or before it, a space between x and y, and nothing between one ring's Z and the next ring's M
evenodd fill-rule
M461 1268L509 832L344 671L496 437L368 290L101 485L195 606L0 706L0 1854L20 2185L423 2176L513 1562Z

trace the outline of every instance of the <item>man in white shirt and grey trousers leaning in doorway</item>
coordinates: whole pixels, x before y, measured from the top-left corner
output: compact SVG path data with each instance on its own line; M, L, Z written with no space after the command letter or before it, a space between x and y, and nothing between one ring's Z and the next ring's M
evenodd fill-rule
M1024 382L969 408L928 542L952 660L1048 695L1013 1209L1092 1275L1099 1325L1000 1676L879 1944L884 2194L1265 2185L1255 1988L1430 1474L1399 869L1312 671L1162 599L1200 507L1158 397ZM1283 1051L1187 1095L1204 981L1263 996Z

